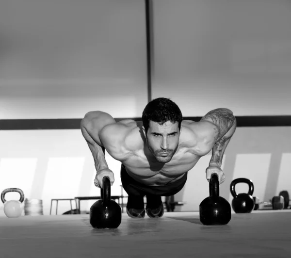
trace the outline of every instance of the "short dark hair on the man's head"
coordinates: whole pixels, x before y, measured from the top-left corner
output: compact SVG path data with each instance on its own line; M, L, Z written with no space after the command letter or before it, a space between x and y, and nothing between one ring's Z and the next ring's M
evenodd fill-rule
M158 97L147 103L143 111L142 119L147 132L149 121L159 123L160 125L163 125L167 121L171 121L172 123L178 122L178 127L181 129L183 116L175 102L169 98Z

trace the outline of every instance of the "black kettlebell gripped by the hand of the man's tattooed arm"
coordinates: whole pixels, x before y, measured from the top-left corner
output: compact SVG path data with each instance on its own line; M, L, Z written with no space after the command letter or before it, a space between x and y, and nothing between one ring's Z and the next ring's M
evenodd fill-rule
M209 194L199 206L200 222L203 225L226 225L231 219L231 207L225 198L219 196L219 181L215 173L210 178Z

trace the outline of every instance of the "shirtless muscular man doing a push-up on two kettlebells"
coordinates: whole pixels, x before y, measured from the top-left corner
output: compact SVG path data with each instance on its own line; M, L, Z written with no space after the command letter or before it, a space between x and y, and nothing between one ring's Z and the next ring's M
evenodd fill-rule
M162 97L146 105L142 121L116 123L101 111L89 112L81 121L81 132L95 161L95 186L102 188L105 176L111 185L114 182L103 147L122 163L121 181L129 195L127 213L132 218L144 218L145 213L151 218L162 217L161 196L177 194L186 183L188 171L211 150L206 179L210 181L211 174L217 173L219 183L223 183L222 158L235 129L236 119L228 109L212 110L199 122L182 121L178 106Z

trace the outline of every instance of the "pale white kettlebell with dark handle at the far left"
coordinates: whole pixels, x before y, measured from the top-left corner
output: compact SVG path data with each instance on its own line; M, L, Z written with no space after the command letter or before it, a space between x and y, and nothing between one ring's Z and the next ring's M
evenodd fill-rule
M17 192L20 194L19 201L5 200L5 194L9 192ZM23 211L22 202L24 201L24 194L21 189L18 188L7 188L1 193L1 201L4 204L4 213L8 218L17 218L20 217Z

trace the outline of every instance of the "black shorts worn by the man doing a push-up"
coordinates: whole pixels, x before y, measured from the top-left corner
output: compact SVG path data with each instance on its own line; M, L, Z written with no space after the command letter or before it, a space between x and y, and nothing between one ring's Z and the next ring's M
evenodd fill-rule
M188 172L183 177L173 183L169 183L161 186L148 186L140 182L137 182L126 171L126 168L121 164L120 177L124 190L128 195L145 196L147 194L170 196L177 194L184 187L187 180Z

